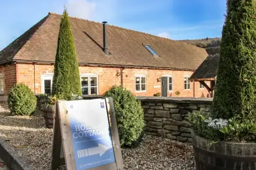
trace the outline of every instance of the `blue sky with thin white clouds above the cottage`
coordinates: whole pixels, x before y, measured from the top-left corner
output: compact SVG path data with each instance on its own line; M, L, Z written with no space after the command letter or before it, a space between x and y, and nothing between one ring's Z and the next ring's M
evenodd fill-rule
M221 37L225 0L0 0L0 50L49 12L173 40Z

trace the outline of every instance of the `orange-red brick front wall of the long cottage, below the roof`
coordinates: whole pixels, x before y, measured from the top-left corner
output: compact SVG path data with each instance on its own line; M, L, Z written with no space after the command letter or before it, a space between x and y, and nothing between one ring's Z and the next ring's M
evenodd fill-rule
M99 78L99 94L103 94L112 85L121 85L121 76L116 74L121 69L98 67L98 66L79 66L80 74L93 73ZM35 65L35 88L34 88L34 65L18 63L17 64L17 82L27 84L33 92L41 93L41 74L53 73L54 65L36 64ZM193 97L193 82L190 82L190 89L184 89L184 76L190 76L192 71L174 71L174 70L150 70L150 69L124 69L123 70L123 86L130 89L136 96L153 96L155 93L161 93L161 82L157 82L157 78L163 75L173 76L173 92L169 96L176 96L175 92L179 90L179 97ZM146 92L135 92L135 74L146 75ZM160 88L153 88L154 86ZM199 82L195 82L195 97L207 97L206 88L200 89Z

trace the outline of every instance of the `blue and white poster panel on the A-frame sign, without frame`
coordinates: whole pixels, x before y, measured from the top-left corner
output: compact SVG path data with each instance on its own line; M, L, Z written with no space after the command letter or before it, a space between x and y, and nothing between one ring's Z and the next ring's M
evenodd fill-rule
M66 109L77 169L115 162L105 100L67 101Z

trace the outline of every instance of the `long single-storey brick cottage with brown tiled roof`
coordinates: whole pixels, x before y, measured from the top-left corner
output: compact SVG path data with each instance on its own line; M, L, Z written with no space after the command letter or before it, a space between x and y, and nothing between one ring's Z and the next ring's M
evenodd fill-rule
M207 97L204 86L188 80L206 59L205 49L69 18L84 95L101 95L122 85L136 96ZM35 94L51 92L60 20L61 15L49 13L0 52L0 99L6 100L19 82Z

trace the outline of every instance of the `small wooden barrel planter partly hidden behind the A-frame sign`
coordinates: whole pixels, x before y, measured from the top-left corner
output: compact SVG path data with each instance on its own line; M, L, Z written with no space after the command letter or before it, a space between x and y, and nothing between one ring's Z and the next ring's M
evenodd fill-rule
M55 105L41 105L41 109L44 112L45 124L47 128L54 127Z

